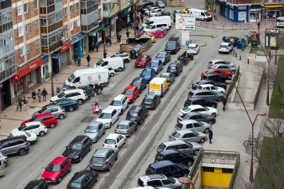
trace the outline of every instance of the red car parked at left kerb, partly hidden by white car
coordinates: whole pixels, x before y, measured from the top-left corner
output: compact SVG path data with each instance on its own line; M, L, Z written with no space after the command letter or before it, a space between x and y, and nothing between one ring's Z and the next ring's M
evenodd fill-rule
M47 127L54 128L57 125L57 119L52 114L37 114L36 116L30 118L29 120L23 121L21 125L32 121L40 121L45 124Z

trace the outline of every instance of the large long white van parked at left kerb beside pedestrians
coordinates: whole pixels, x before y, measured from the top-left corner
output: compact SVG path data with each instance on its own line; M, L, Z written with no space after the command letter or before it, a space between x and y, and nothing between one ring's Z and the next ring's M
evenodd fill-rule
M64 85L70 88L85 88L88 85L109 84L108 68L97 67L75 71L66 81Z

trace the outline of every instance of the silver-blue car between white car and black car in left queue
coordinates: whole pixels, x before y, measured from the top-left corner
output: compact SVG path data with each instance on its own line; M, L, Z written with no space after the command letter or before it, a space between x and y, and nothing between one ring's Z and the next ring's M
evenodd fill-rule
M92 139L92 142L99 141L99 138L101 138L103 134L106 134L106 127L99 121L92 121L83 132L83 135Z

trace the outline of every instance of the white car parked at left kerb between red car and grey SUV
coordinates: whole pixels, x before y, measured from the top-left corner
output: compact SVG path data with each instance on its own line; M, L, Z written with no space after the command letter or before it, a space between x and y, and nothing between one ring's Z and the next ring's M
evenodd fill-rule
M47 134L47 126L40 121L32 121L13 129L12 132L13 131L25 131L29 134L34 133L37 136L45 136L45 134Z

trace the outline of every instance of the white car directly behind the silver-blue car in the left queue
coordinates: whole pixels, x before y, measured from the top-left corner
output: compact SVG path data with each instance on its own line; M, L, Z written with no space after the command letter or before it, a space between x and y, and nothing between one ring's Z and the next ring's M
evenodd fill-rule
M97 116L96 121L100 121L106 128L110 128L117 120L119 120L119 111L117 111L115 108L108 107L102 110L102 113Z

